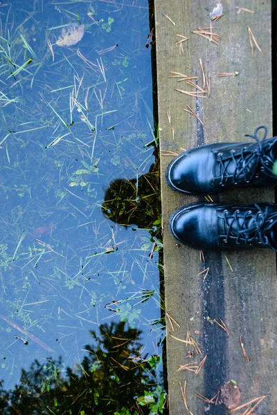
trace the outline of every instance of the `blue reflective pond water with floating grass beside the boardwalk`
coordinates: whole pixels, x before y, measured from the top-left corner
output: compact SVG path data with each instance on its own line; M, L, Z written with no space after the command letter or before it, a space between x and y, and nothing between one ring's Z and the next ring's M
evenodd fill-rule
M162 413L148 1L0 24L0 411Z

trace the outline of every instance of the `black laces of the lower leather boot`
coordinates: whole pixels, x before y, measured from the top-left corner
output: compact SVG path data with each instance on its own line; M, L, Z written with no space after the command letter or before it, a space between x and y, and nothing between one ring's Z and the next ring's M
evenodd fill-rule
M269 214L268 206L265 209L261 209L259 205L255 207L256 212L248 210L243 215L239 209L235 210L235 213L223 211L224 242L228 243L229 238L235 237L235 243L238 245L243 240L244 245L251 246L253 243L255 245L258 243L277 252L277 242L274 236L277 212Z

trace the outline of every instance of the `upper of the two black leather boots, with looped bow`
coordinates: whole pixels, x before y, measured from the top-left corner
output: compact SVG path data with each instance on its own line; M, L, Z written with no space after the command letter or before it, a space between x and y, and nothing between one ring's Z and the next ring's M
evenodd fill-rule
M258 131L264 130L260 141ZM173 190L188 194L212 194L230 187L277 185L272 173L277 158L277 137L266 139L267 127L256 128L256 142L203 145L177 156L166 172Z

